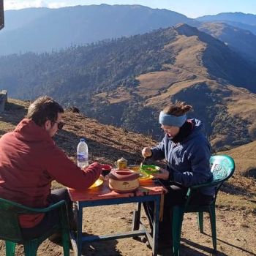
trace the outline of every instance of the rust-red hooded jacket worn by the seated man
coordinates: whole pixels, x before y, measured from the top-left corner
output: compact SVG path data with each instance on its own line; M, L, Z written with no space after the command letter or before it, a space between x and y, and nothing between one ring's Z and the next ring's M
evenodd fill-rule
M0 197L25 206L48 206L53 180L66 187L87 189L101 171L97 163L81 170L55 146L45 129L26 118L14 132L0 138ZM34 227L43 216L20 216L20 225Z

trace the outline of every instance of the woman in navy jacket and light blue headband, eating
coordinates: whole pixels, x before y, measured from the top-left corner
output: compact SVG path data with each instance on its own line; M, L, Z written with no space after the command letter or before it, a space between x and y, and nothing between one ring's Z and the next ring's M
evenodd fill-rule
M163 220L159 224L159 247L171 246L171 207L184 203L187 189L196 184L211 181L211 146L203 135L203 123L197 119L187 119L186 113L192 110L185 102L173 103L159 114L159 124L165 132L162 142L154 148L143 148L142 155L153 160L165 159L166 169L154 174L165 185ZM210 203L214 187L198 190L191 203ZM144 204L151 222L154 206Z

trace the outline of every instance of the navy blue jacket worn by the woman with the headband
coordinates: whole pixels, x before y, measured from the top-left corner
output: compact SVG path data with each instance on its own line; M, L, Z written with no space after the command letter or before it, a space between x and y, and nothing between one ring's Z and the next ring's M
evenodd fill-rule
M194 127L187 138L174 143L167 135L157 147L151 148L152 159L165 159L172 181L184 187L202 184L212 178L210 157L211 146L203 135L200 120L191 119ZM205 195L214 195L214 187L201 188Z

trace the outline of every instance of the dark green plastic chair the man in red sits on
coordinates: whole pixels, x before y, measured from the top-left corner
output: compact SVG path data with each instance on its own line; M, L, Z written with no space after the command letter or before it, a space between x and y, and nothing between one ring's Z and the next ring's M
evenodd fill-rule
M38 214L48 211L59 210L61 224L56 224L47 233L40 237L26 240L23 238L18 215L20 214ZM53 233L62 233L62 244L64 256L69 256L69 223L67 219L67 206L64 200L55 203L48 208L29 208L19 203L0 198L0 239L5 240L6 255L15 255L16 244L23 244L26 256L36 256L37 248L42 241L53 235Z

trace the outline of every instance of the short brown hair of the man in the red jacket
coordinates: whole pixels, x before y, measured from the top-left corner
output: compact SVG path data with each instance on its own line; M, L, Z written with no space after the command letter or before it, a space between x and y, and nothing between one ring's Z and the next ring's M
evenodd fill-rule
M58 102L48 96L37 98L29 106L26 118L33 120L42 127L45 121L50 120L51 124L57 121L58 113L64 113L64 109Z

